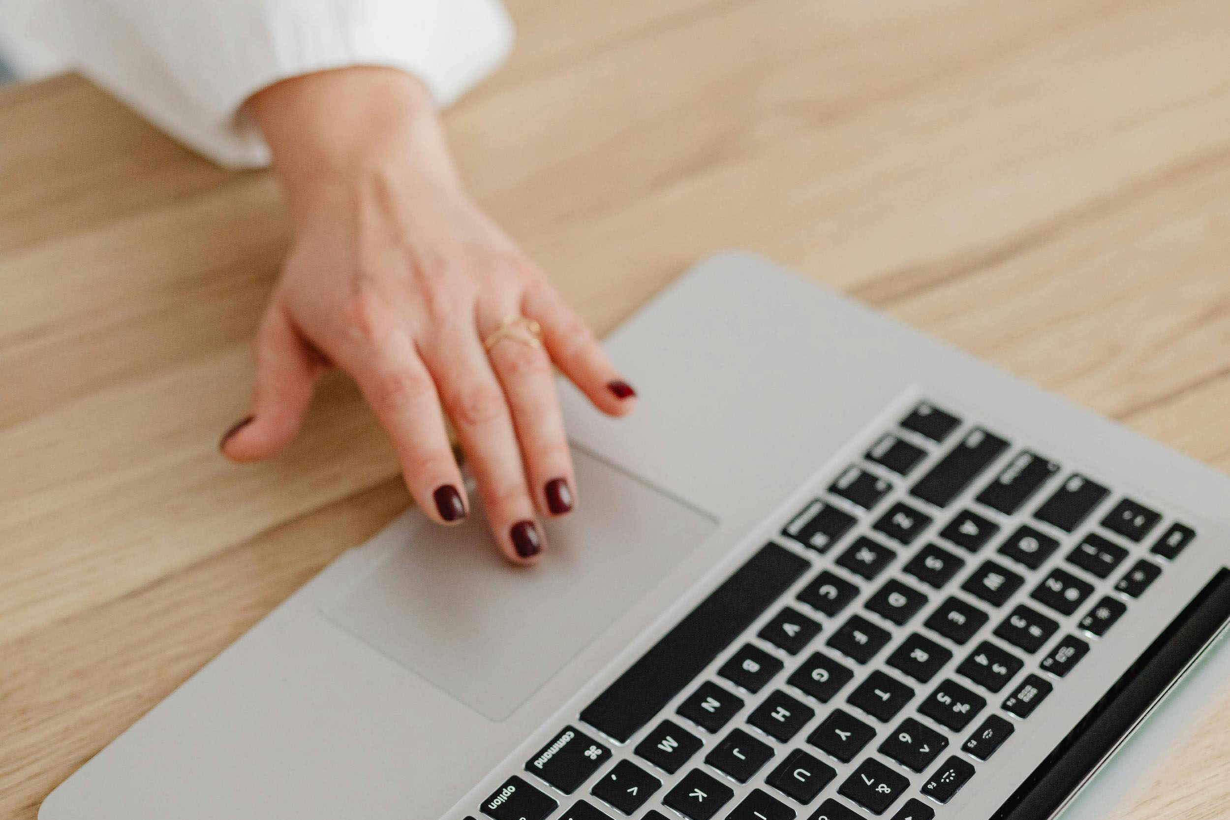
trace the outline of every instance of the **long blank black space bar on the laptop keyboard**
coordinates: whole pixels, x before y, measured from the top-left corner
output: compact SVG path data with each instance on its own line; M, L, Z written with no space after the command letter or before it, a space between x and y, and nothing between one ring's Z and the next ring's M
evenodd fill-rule
M627 742L809 565L777 544L763 547L585 707L581 719Z

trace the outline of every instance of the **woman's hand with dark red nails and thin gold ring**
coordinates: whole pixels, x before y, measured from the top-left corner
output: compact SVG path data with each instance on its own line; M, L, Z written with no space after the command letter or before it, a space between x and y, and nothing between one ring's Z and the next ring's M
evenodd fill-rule
M533 561L536 513L576 502L551 362L610 415L629 412L635 393L466 196L418 80L380 68L311 74L258 92L247 112L273 150L295 241L256 340L252 415L223 452L251 462L285 449L317 377L337 364L442 523L469 510L451 420L496 541ZM504 339L488 355L483 340L508 316L538 321L542 346Z

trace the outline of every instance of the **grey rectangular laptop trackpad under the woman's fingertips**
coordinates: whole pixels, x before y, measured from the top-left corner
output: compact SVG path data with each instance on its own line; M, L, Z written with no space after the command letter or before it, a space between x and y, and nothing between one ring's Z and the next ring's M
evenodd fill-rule
M326 617L478 714L509 717L717 526L572 454L581 504L546 525L536 568L504 563L475 504L456 527L423 520Z

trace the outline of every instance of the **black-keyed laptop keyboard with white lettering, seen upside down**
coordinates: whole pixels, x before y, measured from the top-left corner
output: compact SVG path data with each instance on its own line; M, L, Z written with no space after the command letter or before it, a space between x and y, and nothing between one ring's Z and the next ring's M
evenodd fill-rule
M921 403L478 810L942 818L1194 538Z

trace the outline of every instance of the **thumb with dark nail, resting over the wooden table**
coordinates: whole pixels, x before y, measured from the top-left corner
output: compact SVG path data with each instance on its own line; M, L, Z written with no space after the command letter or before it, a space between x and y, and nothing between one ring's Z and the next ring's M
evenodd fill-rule
M223 436L223 454L236 462L256 462L289 447L303 426L320 371L320 356L282 307L271 304L256 337L251 414Z

